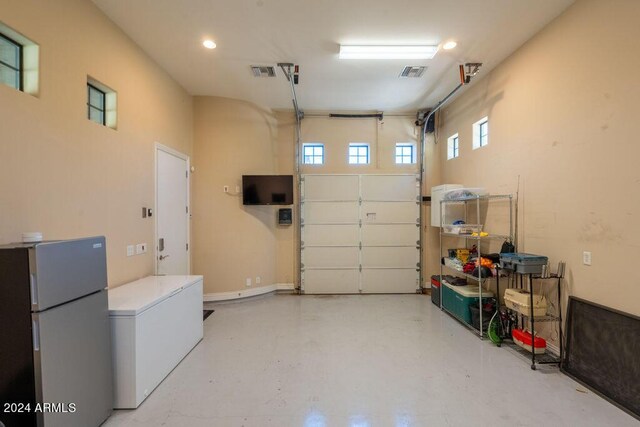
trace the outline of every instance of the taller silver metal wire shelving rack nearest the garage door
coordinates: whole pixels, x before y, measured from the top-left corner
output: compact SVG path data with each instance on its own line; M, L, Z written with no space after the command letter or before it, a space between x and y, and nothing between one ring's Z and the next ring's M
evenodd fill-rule
M488 215L488 208L490 204L494 204L495 202L503 202L503 203L508 203L508 209L509 209L509 232L508 234L489 234L487 236L482 236L480 234L480 231L486 231L484 230L484 224L482 224L482 222L480 221L481 219L481 207L483 204L487 204L487 215ZM449 233L449 232L445 232L445 225L450 225L447 222L447 207L452 206L452 205L462 205L463 209L464 209L464 221L465 223L468 220L468 214L469 214L469 209L473 210L473 208L475 208L475 219L476 219L476 223L477 224L482 224L483 225L483 229L482 230L478 230L478 235L477 236L472 236L469 234L455 234L455 233ZM464 239L465 240L465 247L469 247L469 242L473 242L476 244L476 248L478 250L478 259L481 258L482 256L482 243L483 242L487 242L487 241L492 241L492 240L509 240L511 242L513 242L513 195L511 194L500 194L500 195L476 195L476 196L470 196L470 197L463 197L463 198L456 198L456 199L449 199L449 200L440 200L440 257L443 256L444 254L444 240L445 239ZM460 219L460 218L458 218ZM477 331L479 333L480 339L483 338L483 336L486 334L486 331L484 331L484 325L483 325L483 316L482 316L482 300L483 300L483 296L482 296L482 291L483 291L483 285L485 284L485 281L490 279L489 277L482 277L482 269L478 268L478 275L471 275L471 274L466 274L462 271L459 271L455 268L449 267L444 265L442 262L440 262L440 309L445 311L446 313L452 315L452 317L458 319L457 316L455 316L453 313L451 313L449 310L447 310L445 307L443 307L443 294L444 294L444 283L443 283L443 276L445 275L444 272L446 271L451 271L452 273L455 273L455 275L457 276L461 276L466 278L467 280L472 280L474 282L476 282L478 284L478 301L479 303L479 307L480 307L480 329L476 330L472 325L467 324L465 322L461 322L463 325L469 327L470 329ZM499 283L499 274L498 277L496 277L496 282ZM498 290L499 290L499 285L498 285ZM496 293L496 300L499 301L500 300L500 295L499 293Z

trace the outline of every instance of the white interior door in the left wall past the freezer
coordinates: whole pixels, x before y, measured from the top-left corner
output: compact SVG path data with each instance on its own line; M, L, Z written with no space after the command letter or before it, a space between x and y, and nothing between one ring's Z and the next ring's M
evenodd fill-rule
M156 145L156 274L189 274L189 158Z

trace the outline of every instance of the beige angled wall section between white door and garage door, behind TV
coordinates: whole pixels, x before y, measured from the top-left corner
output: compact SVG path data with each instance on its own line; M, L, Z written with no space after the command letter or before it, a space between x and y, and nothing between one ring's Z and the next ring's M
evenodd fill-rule
M242 175L277 173L275 116L244 101L196 97L194 129L193 272L206 277L205 293L248 290L247 278L251 288L275 284L278 207L244 206L236 192Z

